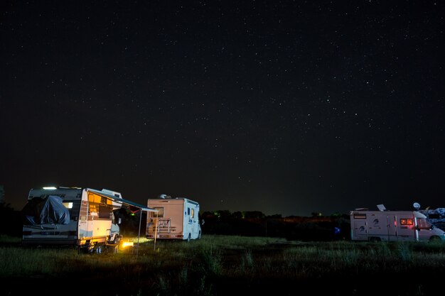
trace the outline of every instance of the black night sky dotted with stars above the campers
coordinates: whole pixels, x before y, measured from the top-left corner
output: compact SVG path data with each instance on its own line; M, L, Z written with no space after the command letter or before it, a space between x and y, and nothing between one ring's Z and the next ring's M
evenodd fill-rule
M1 1L0 185L445 207L442 1Z

